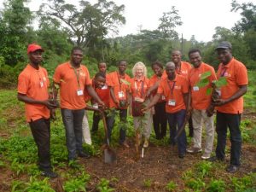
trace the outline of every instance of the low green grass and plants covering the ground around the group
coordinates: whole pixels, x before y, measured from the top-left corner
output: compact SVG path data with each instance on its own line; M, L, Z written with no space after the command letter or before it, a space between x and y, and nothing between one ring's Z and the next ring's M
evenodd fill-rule
M250 113L256 112L256 73L249 72L250 84L245 98L245 108ZM12 172L10 181L0 181L10 185L11 191L54 191L52 182L40 177L37 168L37 149L32 139L29 126L25 122L24 104L16 99L15 90L0 90L0 172L9 170ZM89 124L92 113L89 112ZM118 121L118 119L117 119ZM243 119L241 121L241 133L244 143L256 145L255 119ZM90 154L100 155L104 132L102 123L97 135L92 136L93 145L84 144L84 148ZM127 136L134 137L132 119L128 118ZM168 135L168 131L167 131ZM113 129L112 144L119 142L119 130L117 125ZM155 146L168 146L168 138L164 140L154 139L154 131L150 142ZM190 143L189 139L189 143ZM216 142L216 140L215 140ZM65 191L85 191L91 182L91 175L84 170L84 166L70 169L67 165L67 148L65 145L65 131L61 122L61 114L57 113L57 120L51 124L51 161L54 169L63 178L61 187ZM224 172L225 163L210 163L199 160L197 163L180 173L178 180L169 183L161 183L166 191L255 191L256 173L236 176L227 175ZM1 178L0 178L1 179ZM142 180L144 189L151 189L154 180L150 177ZM114 191L113 185L117 186L119 178L111 180L107 178L97 179L95 189L97 191Z

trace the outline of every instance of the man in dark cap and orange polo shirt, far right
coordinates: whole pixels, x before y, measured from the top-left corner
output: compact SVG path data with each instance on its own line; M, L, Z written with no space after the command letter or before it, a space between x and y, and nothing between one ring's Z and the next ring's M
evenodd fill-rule
M221 42L216 48L218 59L217 78L225 77L227 84L218 90L219 99L213 101L217 107L216 131L218 135L216 156L210 160L224 160L227 128L230 129L230 166L227 172L236 172L241 165L241 113L243 112L242 96L247 92L247 68L237 61L231 52L229 42Z

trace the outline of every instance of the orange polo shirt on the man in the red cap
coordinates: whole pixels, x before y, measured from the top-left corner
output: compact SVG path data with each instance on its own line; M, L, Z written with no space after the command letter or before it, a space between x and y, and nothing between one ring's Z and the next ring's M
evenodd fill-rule
M19 75L18 93L34 100L48 100L48 87L48 74L43 67L37 70L28 64ZM41 118L49 119L49 109L44 105L25 103L25 109L27 122Z

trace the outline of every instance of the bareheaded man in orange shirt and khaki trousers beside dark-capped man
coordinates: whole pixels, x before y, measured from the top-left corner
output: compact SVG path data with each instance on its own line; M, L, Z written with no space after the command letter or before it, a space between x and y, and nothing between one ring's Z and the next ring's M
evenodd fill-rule
M211 105L211 95L207 95L207 90L211 89L212 81L216 80L214 68L201 61L201 51L199 49L189 50L189 60L194 66L190 69L188 79L192 100L192 121L193 121L193 146L187 149L187 152L195 154L201 152L202 123L206 125L206 143L202 159L210 158L212 153L212 144L214 139L213 115L208 116L207 108ZM199 87L203 73L210 72L208 84L205 87Z

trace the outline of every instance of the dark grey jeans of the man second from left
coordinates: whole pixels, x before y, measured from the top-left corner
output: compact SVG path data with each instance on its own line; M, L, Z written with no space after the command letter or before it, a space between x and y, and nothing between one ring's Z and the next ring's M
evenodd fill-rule
M76 152L81 152L82 148L82 122L84 109L71 110L61 108L61 116L66 130L66 144L68 160L76 158Z

